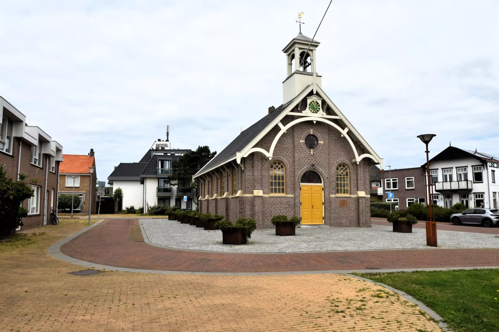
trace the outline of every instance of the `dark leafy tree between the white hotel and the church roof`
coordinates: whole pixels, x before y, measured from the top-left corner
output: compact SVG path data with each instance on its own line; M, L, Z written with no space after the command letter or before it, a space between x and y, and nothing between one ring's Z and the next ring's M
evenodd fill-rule
M205 166L215 155L216 151L211 152L207 145L199 146L196 151L189 152L181 156L179 160L172 165L172 179L185 180L191 179L203 166Z

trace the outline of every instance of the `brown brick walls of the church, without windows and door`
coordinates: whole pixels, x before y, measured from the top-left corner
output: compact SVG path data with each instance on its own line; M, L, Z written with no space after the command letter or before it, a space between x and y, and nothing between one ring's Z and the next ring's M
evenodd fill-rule
M304 102L300 104L300 109L304 109ZM298 106L295 108L293 111L296 112ZM295 119L298 117L287 115L281 123L285 126ZM334 122L340 126L336 120ZM255 147L269 151L279 131L279 126L275 126ZM318 144L313 154L301 142L311 132L319 142L323 142ZM359 155L364 153L357 143L355 148ZM305 171L314 170L323 182L324 224L368 227L371 224L369 167L373 162L366 158L357 165L352 162L353 159L355 155L350 144L331 125L312 121L298 123L280 137L271 160L256 152L244 158L242 165L234 161L200 176L201 196L209 196L208 199L200 199L200 211L222 214L232 221L242 216L250 217L256 220L257 228L271 228L270 219L275 214L300 216L300 179ZM285 166L285 195L269 193L269 166L276 160ZM336 166L340 163L349 167L348 195L336 194ZM232 195L233 172L237 173L238 191L241 190L238 196ZM220 190L221 178L225 181L224 191L229 193L225 198L220 197L224 195ZM212 181L215 191L212 190ZM253 195L253 190L262 190L263 196ZM364 191L366 196L358 197L357 191ZM217 197L214 198L214 194ZM340 206L340 200L346 200L347 206Z

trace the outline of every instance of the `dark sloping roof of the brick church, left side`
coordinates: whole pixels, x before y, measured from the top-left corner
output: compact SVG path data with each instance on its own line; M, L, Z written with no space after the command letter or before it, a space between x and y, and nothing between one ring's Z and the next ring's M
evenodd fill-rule
M263 118L251 125L248 129L244 130L224 150L222 150L217 156L215 156L215 158L213 158L208 164L201 168L198 173L236 156L237 152L240 152L248 144L250 144L250 142L256 136L258 136L259 133L261 133L275 118L277 118L286 109L289 104L294 101L294 99L295 98L291 99L286 104L277 107L275 111L265 115Z

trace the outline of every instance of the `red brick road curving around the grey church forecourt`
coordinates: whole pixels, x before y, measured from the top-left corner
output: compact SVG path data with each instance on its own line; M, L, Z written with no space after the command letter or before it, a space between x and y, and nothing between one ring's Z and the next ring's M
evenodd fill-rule
M137 219L105 220L64 244L61 251L68 256L96 264L132 269L192 272L499 266L499 249L415 249L296 254L235 254L167 249L144 242L134 242L138 240L137 225Z

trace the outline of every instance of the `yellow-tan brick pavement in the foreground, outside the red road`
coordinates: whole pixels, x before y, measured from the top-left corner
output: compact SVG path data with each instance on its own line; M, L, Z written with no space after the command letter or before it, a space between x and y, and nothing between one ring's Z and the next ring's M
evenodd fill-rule
M338 274L69 275L82 267L46 248L84 226L61 220L0 242L0 331L440 331L398 295Z

